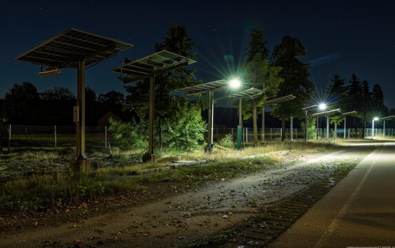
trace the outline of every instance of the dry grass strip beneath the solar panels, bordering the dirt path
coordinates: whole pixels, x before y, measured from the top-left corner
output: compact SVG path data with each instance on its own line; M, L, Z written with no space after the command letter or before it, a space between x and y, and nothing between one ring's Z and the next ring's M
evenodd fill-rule
M89 174L70 174L57 172L52 174L26 174L24 178L8 180L0 184L0 211L7 210L24 214L27 211L45 211L61 209L70 205L79 205L100 196L128 194L141 187L149 187L158 182L202 183L210 180L225 180L265 169L283 158L278 152L318 152L338 147L333 141L321 142L273 142L262 147L215 151L204 153L202 150L185 154L159 156L156 163L138 163L141 152L91 149L88 154L96 164ZM270 154L270 155L263 155ZM14 149L10 154L0 154L1 161L18 165L30 161L68 161L74 155L74 149ZM254 156L251 156L254 155ZM249 157L250 156L250 157ZM247 157L247 158L246 158ZM243 158L243 159L239 159ZM174 160L207 159L210 163L196 167L177 167L171 169L168 164ZM8 163L7 162L7 163ZM67 163L67 162L65 162ZM343 167L342 167L343 166ZM339 166L338 173L347 171L352 163ZM355 165L354 165L355 166ZM253 204L253 203L251 203Z

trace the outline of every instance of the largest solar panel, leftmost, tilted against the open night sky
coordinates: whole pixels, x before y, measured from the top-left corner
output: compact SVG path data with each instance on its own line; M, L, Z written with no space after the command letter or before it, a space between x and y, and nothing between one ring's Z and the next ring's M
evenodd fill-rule
M79 60L85 59L86 66L94 65L132 46L117 39L70 28L16 60L45 65L50 69L77 68Z

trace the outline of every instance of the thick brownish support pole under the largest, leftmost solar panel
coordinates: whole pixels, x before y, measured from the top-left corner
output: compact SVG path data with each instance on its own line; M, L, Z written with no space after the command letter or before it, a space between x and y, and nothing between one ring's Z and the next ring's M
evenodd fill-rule
M77 85L77 160L86 159L85 155L85 59L78 61L78 85Z

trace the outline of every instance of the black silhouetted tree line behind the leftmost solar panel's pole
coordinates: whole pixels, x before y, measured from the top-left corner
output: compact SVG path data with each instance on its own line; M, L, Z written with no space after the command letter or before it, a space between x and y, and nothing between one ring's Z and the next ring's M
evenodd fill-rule
M38 92L32 83L15 83L0 101L1 123L14 125L74 125L76 97L65 87ZM108 111L119 114L125 97L121 92L97 94L86 88L86 125L97 125Z

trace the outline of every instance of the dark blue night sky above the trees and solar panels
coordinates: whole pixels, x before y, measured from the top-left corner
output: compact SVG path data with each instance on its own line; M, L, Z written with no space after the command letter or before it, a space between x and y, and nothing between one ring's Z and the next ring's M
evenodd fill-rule
M315 99L335 72L355 73L372 86L381 84L385 105L395 108L395 3L392 1L1 1L0 96L14 83L30 81L39 91L54 86L77 88L77 70L40 78L39 66L14 58L45 37L78 28L134 44L87 71L87 85L97 94L123 92L110 69L121 60L138 59L162 42L171 24L186 25L198 54L196 78L229 76L243 60L252 28L262 27L270 52L289 34L307 48Z

